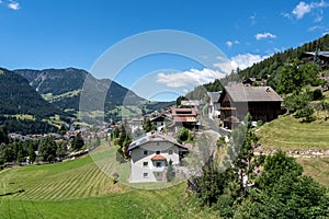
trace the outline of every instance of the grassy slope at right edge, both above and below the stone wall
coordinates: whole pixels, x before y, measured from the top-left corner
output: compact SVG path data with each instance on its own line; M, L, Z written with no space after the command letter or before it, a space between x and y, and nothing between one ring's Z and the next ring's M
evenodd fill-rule
M329 120L299 123L293 116L282 116L257 131L263 148L287 150L329 150ZM298 158L304 174L329 186L329 158Z

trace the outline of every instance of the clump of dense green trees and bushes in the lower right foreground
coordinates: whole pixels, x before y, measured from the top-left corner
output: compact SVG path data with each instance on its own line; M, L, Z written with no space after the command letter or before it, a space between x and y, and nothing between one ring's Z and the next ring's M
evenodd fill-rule
M249 117L232 131L222 164L211 158L189 181L198 203L223 218L329 217L328 189L282 151L254 155L257 141Z

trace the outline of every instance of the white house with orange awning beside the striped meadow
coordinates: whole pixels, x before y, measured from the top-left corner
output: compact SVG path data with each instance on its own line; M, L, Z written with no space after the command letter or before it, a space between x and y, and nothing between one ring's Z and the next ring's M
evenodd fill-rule
M173 138L164 135L148 134L135 141L128 148L131 154L131 183L166 181L167 165L180 165L188 149Z

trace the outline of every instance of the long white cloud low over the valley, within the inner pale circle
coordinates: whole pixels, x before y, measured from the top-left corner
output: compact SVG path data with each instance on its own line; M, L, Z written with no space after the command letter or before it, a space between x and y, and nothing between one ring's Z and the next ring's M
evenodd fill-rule
M157 74L157 82L166 84L169 88L196 87L224 77L225 74L219 71L204 68L202 70L191 69L174 73L159 72Z

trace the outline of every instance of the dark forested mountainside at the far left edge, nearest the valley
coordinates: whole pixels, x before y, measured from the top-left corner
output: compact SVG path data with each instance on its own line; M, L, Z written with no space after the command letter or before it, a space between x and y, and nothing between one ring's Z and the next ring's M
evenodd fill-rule
M50 132L57 127L47 120L55 115L66 117L58 107L45 101L24 77L0 68L0 126L5 125L10 132Z

